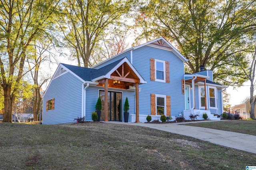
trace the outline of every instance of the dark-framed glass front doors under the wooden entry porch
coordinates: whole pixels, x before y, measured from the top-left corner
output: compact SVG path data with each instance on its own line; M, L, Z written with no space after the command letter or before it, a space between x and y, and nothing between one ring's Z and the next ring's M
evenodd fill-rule
M102 112L100 120L104 120L104 101L105 92L100 90L100 98L102 100ZM108 91L108 121L122 121L122 93L116 91Z

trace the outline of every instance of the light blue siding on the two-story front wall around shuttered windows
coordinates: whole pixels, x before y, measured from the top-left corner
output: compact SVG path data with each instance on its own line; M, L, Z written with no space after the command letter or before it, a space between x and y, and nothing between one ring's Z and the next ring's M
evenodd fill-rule
M170 62L170 83L150 80L150 58ZM149 46L135 49L132 60L136 70L147 81L146 84L139 86L140 114L151 114L150 94L170 95L172 116L178 116L183 112L185 95L181 91L181 79L184 79L184 62L171 51Z

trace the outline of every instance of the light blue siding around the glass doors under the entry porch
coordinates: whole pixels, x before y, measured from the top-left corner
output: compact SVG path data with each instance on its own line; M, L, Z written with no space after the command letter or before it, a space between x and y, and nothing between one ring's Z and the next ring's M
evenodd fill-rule
M95 105L99 97L99 90L104 90L104 87L89 86L88 89L86 89L86 121L92 121L92 112L95 111ZM122 92L122 121L124 121L123 109L126 97L128 97L130 105L129 113L135 114L135 91L112 88L109 88L108 90ZM130 116L128 122L130 122Z

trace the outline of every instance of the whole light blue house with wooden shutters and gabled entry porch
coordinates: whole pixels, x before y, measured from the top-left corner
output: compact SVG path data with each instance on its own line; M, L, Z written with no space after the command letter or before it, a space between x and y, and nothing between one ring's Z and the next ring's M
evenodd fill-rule
M145 122L160 115L175 119L223 112L222 89L210 70L184 73L188 61L164 38L132 47L91 68L60 63L43 96L43 124L71 123L76 117L92 121L98 97L101 120L124 121L126 97L129 122ZM105 98L108 98L105 100ZM121 107L122 106L122 107ZM105 114L107 110L107 114Z

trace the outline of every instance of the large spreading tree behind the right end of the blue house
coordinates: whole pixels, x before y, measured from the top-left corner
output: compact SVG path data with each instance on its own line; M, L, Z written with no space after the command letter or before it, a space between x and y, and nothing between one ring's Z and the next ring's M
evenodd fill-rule
M164 36L174 42L189 59L190 72L205 65L214 71L214 81L225 85L246 81L230 58L246 50L241 48L246 34L256 30L256 0L149 0L140 13L148 22L141 22L146 27L141 37Z

